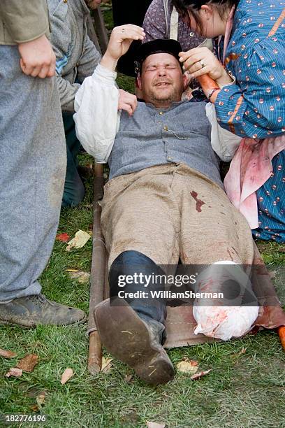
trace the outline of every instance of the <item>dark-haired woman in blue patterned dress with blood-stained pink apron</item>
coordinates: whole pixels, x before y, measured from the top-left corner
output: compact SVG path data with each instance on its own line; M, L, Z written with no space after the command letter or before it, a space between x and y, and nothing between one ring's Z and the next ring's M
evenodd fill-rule
M217 57L207 48L180 56L193 77L215 80L202 86L219 124L244 137L225 179L228 197L254 236L285 242L285 1L173 4L191 29L217 38Z

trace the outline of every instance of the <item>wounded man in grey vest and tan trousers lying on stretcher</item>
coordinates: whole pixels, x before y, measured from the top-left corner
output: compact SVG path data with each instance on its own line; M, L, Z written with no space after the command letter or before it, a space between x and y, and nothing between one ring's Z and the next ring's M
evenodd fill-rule
M202 297L193 308L196 333L224 340L242 336L254 324L258 305L249 299L242 306L237 292L252 295L242 266L253 263L254 242L224 192L211 145L221 136L226 144L228 131L217 132L204 101L180 101L184 77L177 41L140 47L138 85L145 103L131 98L130 114L117 112L117 60L143 37L131 24L112 31L101 64L78 90L74 120L85 150L110 166L101 224L112 303L95 309L98 332L112 355L157 384L174 374L162 347L166 282L154 279L165 277L161 265L176 266L179 259L206 265L195 281ZM202 293L221 291L221 285L236 299L207 302Z

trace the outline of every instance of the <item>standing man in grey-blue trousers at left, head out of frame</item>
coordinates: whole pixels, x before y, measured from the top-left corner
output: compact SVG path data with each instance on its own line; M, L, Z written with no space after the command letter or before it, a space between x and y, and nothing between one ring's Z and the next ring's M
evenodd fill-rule
M45 0L0 2L0 324L72 324L38 277L59 222L66 148Z

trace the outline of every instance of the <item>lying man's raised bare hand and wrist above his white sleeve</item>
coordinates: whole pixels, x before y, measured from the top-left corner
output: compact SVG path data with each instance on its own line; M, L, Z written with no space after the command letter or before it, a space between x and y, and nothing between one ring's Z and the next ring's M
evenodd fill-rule
M108 48L101 59L101 65L106 69L115 71L117 61L124 55L133 40L143 40L145 31L138 25L126 24L112 30Z

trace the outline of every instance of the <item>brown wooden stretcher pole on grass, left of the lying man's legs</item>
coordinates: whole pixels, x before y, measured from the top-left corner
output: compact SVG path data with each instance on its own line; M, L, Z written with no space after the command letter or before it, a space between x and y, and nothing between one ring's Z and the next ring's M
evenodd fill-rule
M103 166L95 164L94 176L94 202L93 202L93 252L90 276L90 301L89 301L89 373L96 374L101 370L102 345L96 324L94 321L94 308L104 299L105 285L105 259L107 257L105 243L101 231L101 206L99 201L103 197Z

